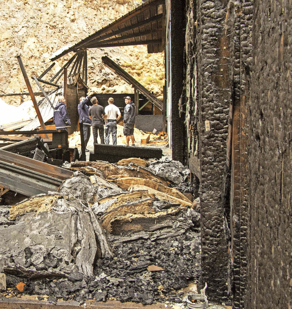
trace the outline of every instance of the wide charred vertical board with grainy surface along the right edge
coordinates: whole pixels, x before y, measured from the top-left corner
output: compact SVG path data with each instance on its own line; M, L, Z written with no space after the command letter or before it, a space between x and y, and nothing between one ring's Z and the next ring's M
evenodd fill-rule
M292 307L291 3L255 2L246 308ZM248 70L247 70L248 71Z

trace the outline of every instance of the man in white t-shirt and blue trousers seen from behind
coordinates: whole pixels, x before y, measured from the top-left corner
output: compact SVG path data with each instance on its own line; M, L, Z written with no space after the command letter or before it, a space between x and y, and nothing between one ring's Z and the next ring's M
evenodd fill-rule
M105 136L106 136L106 144L110 143L110 135L113 138L113 145L117 144L117 121L121 118L121 112L118 107L114 105L114 99L108 99L108 105L105 107Z

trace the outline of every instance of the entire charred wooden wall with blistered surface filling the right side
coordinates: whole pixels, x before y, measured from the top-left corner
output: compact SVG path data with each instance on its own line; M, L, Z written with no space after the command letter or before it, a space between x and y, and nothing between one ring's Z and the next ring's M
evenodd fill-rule
M179 109L200 179L201 281L232 308L292 308L291 5L190 0L185 15Z

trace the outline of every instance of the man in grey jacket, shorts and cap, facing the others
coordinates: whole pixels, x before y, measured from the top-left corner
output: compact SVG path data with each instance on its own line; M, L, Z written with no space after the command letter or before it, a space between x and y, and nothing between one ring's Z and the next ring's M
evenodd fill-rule
M129 96L124 97L126 107L124 110L124 129L123 133L126 137L126 146L129 146L129 141L131 137L132 146L135 146L135 138L134 138L134 126L135 126L135 118L136 118L136 107L135 104L131 101Z

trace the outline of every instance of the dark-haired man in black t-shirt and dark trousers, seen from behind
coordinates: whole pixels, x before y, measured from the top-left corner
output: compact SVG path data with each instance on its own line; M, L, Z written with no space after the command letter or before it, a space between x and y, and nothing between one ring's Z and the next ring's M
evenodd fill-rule
M98 100L96 99L96 97L93 97L90 102L93 104L89 108L89 118L92 120L92 133L94 138L94 144L98 144L98 133L100 137L100 143L104 144L104 108L101 105L98 105Z

